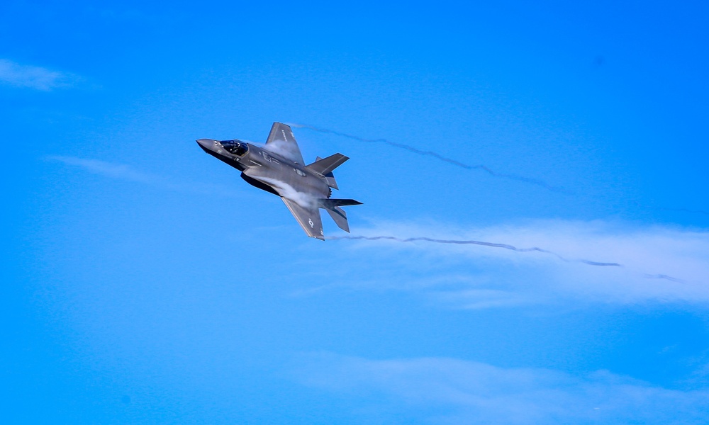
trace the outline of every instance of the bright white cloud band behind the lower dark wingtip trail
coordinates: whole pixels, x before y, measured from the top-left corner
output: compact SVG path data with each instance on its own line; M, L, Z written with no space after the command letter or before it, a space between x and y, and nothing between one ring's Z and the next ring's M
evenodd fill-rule
M391 268L415 271L408 277L391 273L398 289L427 293L456 307L512 307L567 297L709 302L709 232L704 229L602 220L479 228L379 221L361 234L364 239L333 243L349 244L379 273L397 258ZM459 243L471 241L476 243ZM407 255L398 255L402 251Z

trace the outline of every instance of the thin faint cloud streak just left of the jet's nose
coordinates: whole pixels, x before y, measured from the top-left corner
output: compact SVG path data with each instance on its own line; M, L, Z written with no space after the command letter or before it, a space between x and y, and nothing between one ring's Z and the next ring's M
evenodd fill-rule
M230 188L215 184L190 183L180 181L174 183L174 179L167 179L160 174L140 171L128 164L116 164L113 162L101 161L99 159L84 159L77 157L64 157L53 155L45 157L49 161L62 162L70 166L77 166L81 169L89 171L93 174L99 174L111 179L119 179L123 181L133 181L135 183L147 184L156 188L169 191L183 191L189 193L202 193L218 196L237 196Z

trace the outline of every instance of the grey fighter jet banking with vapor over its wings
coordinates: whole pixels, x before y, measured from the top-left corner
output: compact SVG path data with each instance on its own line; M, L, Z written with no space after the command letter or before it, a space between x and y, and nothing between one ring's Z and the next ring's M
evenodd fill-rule
M241 171L241 178L250 185L280 196L309 237L325 240L320 208L340 229L350 232L347 214L340 207L361 202L330 199L332 188L337 189L333 170L349 159L345 155L318 157L306 165L291 128L283 123L273 123L264 147L237 139L199 139L197 143L204 152Z

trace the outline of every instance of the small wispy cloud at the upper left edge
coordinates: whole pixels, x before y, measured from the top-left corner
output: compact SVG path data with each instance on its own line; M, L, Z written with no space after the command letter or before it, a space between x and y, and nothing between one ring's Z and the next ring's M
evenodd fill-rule
M79 80L75 74L0 59L0 83L10 86L49 91L73 86Z

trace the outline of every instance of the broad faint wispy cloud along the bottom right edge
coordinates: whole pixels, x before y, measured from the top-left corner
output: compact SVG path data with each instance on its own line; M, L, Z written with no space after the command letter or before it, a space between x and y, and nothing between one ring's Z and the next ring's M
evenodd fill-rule
M603 370L570 375L453 358L331 353L301 356L296 370L303 384L354 400L359 409L352 413L373 422L393 412L413 422L458 424L699 424L709 415L704 387L670 390Z

